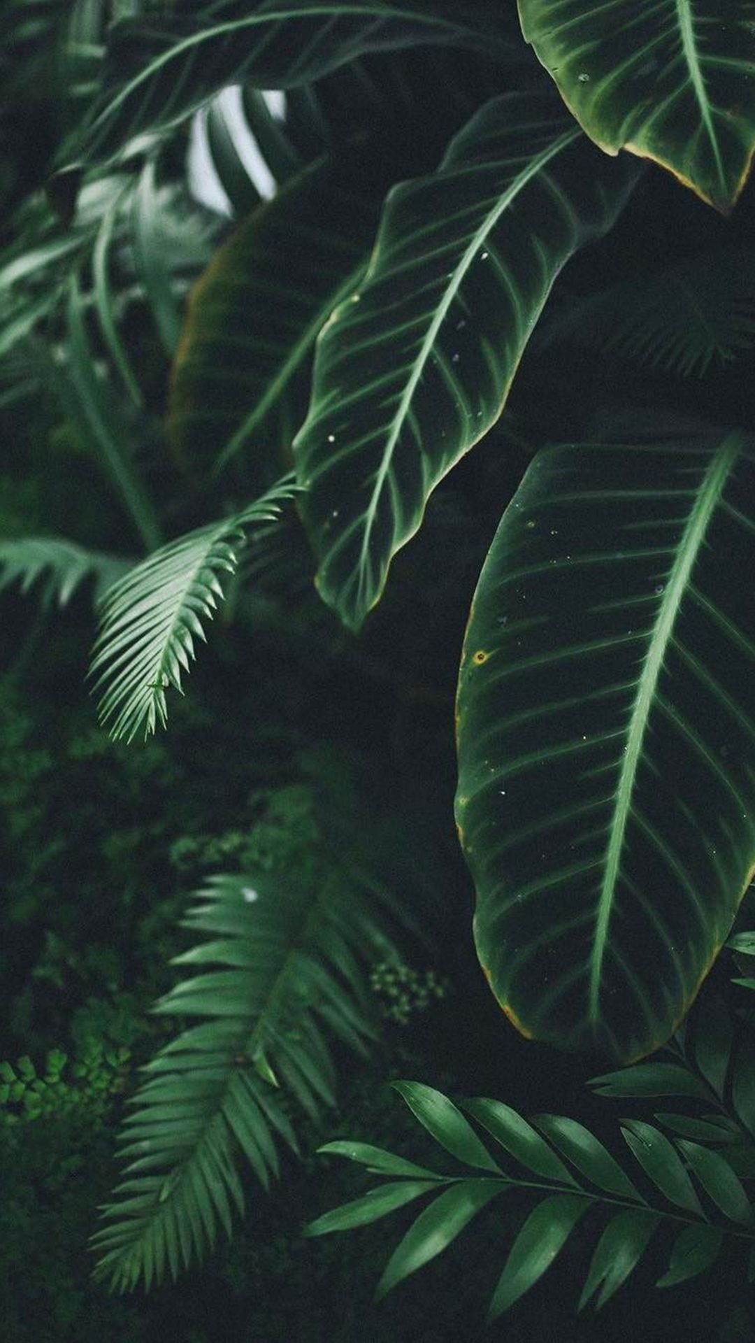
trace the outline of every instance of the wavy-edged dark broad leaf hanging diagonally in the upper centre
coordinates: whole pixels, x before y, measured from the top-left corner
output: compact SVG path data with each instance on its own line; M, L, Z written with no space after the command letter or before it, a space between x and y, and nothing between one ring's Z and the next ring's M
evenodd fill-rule
M463 128L434 176L388 196L365 282L322 332L294 445L320 592L347 624L501 414L553 279L626 199L622 168L548 97L513 94Z

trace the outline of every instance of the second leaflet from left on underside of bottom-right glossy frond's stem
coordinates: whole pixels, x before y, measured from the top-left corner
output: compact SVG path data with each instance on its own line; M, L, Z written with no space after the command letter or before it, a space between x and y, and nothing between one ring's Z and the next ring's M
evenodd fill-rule
M465 1179L438 1194L396 1245L378 1284L376 1299L447 1249L472 1218L505 1189L502 1180Z

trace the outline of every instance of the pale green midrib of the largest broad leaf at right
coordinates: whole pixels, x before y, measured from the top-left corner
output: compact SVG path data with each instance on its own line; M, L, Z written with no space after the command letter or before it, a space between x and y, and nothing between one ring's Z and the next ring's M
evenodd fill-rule
M605 860L606 866L598 901L595 937L590 952L590 1022L594 1026L599 1019L601 978L609 940L609 925L619 878L626 826L631 813L631 799L637 780L637 771L642 756L648 721L656 701L658 678L664 667L665 653L672 638L681 602L688 591L692 571L705 540L708 524L720 502L725 481L740 450L740 435L729 434L713 455L700 483L697 500L686 520L678 552L665 587L662 602L658 607L658 616L656 619L656 624L653 626L642 673L638 681L637 697L629 721L626 748L617 784L615 808L610 827L610 838Z

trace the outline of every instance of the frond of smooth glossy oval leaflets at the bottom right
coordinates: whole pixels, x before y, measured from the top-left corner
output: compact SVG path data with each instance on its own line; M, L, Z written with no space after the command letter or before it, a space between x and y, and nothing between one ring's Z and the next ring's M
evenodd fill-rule
M466 1171L416 1167L365 1143L336 1142L320 1148L359 1162L372 1174L392 1176L392 1182L325 1213L308 1228L310 1236L363 1226L414 1199L434 1195L388 1260L378 1296L445 1250L494 1198L515 1190L529 1191L537 1202L510 1246L489 1319L508 1311L540 1280L590 1209L602 1211L603 1230L590 1262L580 1309L590 1300L601 1309L664 1226L674 1233L674 1240L669 1268L657 1287L674 1287L711 1268L727 1237L731 1249L738 1241L755 1246L754 1210L747 1193L719 1152L684 1139L672 1143L652 1124L630 1119L621 1131L629 1148L625 1166L572 1119L539 1115L528 1123L501 1101L468 1100L462 1108L497 1144L493 1158L477 1129L442 1092L422 1082L394 1082L394 1086L438 1146ZM704 1210L700 1195L715 1209L713 1214Z

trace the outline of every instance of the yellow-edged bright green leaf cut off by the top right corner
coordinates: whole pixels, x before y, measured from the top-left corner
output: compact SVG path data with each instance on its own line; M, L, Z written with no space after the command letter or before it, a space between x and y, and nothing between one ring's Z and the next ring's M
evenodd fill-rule
M729 210L755 149L752 0L519 0L521 28L588 136Z

